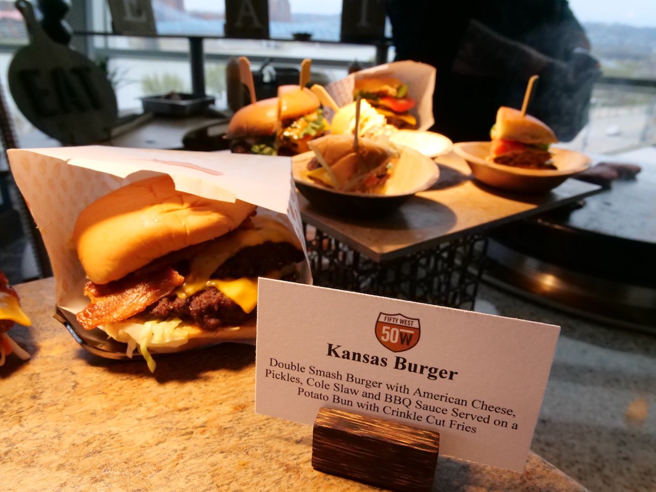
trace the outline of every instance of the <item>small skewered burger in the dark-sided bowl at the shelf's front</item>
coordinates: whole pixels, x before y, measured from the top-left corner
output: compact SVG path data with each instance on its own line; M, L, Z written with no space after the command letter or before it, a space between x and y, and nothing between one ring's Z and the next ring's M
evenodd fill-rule
M340 192L380 193L398 157L389 146L353 135L327 135L310 142L314 157L306 177Z

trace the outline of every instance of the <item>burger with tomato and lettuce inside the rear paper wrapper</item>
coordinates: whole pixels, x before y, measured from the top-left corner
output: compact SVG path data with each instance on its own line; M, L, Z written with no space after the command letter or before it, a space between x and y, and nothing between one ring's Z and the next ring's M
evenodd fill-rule
M408 94L408 86L396 77L367 77L356 79L354 100L360 96L382 114L387 123L398 129L417 128L417 118L409 111L415 100Z

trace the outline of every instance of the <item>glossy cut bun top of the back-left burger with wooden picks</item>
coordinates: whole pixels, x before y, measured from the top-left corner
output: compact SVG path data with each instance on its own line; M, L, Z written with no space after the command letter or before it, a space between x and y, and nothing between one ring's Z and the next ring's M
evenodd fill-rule
M280 118L296 119L319 109L319 98L310 89L281 85ZM228 138L272 135L276 131L278 98L263 99L237 110L228 123Z

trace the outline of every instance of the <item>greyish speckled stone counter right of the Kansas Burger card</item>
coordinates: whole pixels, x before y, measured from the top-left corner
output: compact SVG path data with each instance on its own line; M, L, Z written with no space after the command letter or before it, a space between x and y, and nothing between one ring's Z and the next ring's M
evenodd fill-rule
M656 336L483 283L476 310L561 327L531 449L595 492L656 491Z

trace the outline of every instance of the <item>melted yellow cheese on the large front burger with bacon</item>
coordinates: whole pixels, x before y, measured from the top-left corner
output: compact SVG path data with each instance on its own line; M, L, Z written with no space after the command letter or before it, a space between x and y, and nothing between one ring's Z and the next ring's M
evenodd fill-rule
M190 274L176 289L176 295L187 298L205 287L215 287L220 293L232 299L244 312L249 313L257 304L257 278L213 279L211 275L241 249L257 246L266 241L274 243L289 242L300 249L298 238L286 226L266 216L253 217L252 229L240 229L207 243L194 256ZM270 272L268 277L279 277L279 272Z

